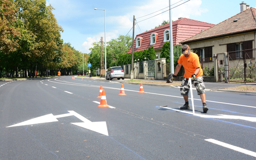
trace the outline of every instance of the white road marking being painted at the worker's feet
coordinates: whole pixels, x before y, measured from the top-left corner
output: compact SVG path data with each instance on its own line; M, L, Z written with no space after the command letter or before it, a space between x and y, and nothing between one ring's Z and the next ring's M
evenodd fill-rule
M162 107L162 108L166 108L168 110L173 110L173 111L193 115L193 113L191 113L191 112L176 110L176 109L169 108L169 107ZM197 113L194 115L198 116L198 117L202 117L202 118L242 119L242 120L247 120L247 121L251 121L251 122L256 122L256 117L232 116L232 115L223 115L223 114L218 114L218 116L215 116L215 115L202 115L202 114L197 114Z

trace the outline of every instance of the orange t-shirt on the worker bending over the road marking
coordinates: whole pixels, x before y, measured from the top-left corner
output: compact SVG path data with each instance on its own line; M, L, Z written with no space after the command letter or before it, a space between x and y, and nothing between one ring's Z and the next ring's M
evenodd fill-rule
M191 75L195 73L198 67L200 67L200 71L196 77L200 77L203 75L203 70L201 68L198 55L193 52L190 52L189 57L185 57L182 54L178 60L178 63L182 64L182 66L185 69L185 73L184 73L185 78L191 78Z

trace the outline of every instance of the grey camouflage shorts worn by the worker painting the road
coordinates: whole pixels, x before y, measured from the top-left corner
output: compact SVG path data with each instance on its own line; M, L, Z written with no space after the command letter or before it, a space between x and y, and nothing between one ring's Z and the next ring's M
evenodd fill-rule
M191 82L196 87L198 95L205 93L205 91L204 91L205 85L203 83L203 76L197 77L196 79L191 80ZM187 84L188 84L188 78L184 77L183 80L182 80L181 87L184 87L184 86L186 86L186 87L181 88L181 95L182 96L188 95L190 86L187 85Z

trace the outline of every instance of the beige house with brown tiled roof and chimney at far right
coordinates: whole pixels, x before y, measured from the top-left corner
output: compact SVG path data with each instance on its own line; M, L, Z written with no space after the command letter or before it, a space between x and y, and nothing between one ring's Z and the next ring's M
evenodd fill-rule
M205 59L218 53L256 48L256 8L248 6L242 2L240 13L180 43L188 44ZM242 58L242 54L235 56L235 59ZM251 52L247 57L255 58L255 54Z

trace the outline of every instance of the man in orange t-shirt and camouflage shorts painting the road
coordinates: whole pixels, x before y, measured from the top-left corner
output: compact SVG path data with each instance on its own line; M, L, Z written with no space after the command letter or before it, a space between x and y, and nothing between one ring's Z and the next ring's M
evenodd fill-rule
M189 109L188 103L188 92L190 86L188 85L188 78L191 78L191 83L195 85L197 89L197 94L200 95L200 98L203 103L203 112L206 113L208 111L206 105L206 98L205 98L205 85L203 83L203 70L201 68L198 55L190 52L190 47L185 44L182 46L182 55L178 60L178 65L175 68L175 71L171 77L174 81L176 75L181 69L181 66L185 69L184 78L181 84L181 95L185 100L185 104L180 108L181 110Z

